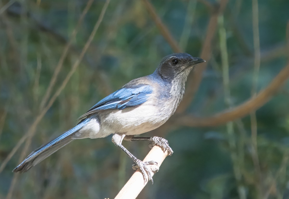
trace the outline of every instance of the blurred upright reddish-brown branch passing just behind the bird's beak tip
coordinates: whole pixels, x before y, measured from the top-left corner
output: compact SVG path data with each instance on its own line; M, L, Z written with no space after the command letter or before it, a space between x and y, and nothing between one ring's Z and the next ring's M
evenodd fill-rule
M184 98L183 98L181 104L179 105L176 113L182 113L186 110L186 108L192 102L195 93L199 89L201 80L203 78L202 74L205 71L205 69L208 65L208 61L211 58L212 40L213 40L215 32L216 32L218 15L223 13L223 11L225 10L225 7L227 5L227 2L228 2L228 0L221 0L220 8L219 8L218 12L213 13L211 18L210 18L208 28L207 28L207 34L206 34L203 48L202 48L201 55L200 55L200 57L202 59L205 59L207 62L203 63L202 65L197 66L194 69L194 71L188 76L186 93L185 93Z

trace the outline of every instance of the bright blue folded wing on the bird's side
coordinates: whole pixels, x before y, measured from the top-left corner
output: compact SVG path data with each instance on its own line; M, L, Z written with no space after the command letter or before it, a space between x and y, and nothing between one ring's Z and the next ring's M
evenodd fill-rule
M99 110L122 110L127 107L140 105L147 101L152 92L153 88L150 85L139 84L134 87L123 87L100 100L90 108L86 114L79 117L79 119L98 112Z

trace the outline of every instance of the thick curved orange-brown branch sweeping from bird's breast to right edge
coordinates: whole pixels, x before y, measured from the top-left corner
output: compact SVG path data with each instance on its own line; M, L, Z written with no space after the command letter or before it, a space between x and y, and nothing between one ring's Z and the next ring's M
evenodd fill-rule
M284 85L289 78L289 63L284 67L279 74L271 81L271 83L262 91L260 91L255 97L249 99L243 104L218 113L212 117L193 117L191 115L176 115L170 121L171 124L184 125L190 127L205 127L205 126L218 126L229 121L244 117L250 112L257 110L264 104L266 104L278 89Z

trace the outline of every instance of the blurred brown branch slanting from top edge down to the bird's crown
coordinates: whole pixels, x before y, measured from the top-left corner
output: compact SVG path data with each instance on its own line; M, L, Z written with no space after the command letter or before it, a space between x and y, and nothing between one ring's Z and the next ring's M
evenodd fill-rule
M168 44L170 44L171 48L173 49L174 52L182 52L181 48L178 46L176 40L173 38L171 35L170 31L164 25L158 14L155 12L155 8L153 5L148 0L143 0L145 7L147 8L147 11L151 15L151 18L155 22L155 25L158 27L159 31L163 35L163 37L166 39Z

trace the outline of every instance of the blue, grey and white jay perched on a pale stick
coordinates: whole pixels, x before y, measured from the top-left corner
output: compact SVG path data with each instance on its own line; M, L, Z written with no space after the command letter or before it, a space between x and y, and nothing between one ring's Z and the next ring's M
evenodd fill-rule
M133 168L140 168L144 181L153 183L150 165L158 163L137 159L122 145L122 141L149 140L171 155L173 150L166 139L135 136L160 127L173 115L184 96L189 73L195 65L203 62L205 60L188 53L164 57L152 74L131 80L101 99L78 118L80 122L75 127L34 150L13 172L26 172L73 140L104 138L112 134L112 142L134 161Z

